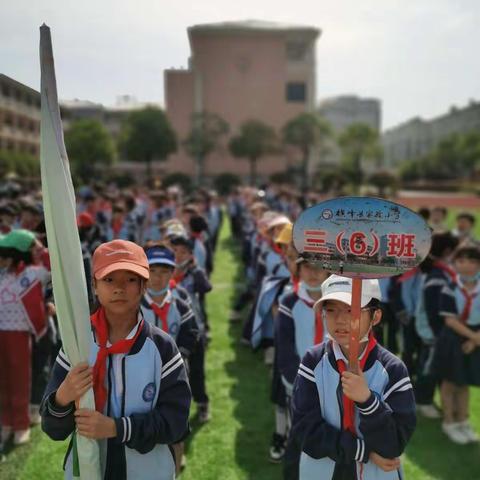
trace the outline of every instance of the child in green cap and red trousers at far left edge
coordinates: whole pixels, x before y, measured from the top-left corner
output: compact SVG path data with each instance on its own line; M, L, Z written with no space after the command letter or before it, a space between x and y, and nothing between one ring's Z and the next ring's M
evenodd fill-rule
M0 239L0 443L30 440L32 335L47 332L45 293L50 273L32 265L35 235L12 230Z

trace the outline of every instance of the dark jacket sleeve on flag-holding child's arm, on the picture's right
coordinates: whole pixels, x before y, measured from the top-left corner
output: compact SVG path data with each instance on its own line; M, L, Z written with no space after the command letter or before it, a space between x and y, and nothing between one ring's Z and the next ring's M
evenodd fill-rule
M182 355L175 342L162 332L155 336L163 367L155 408L115 419L116 443L125 443L139 453L150 452L157 444L172 444L188 433L191 392Z

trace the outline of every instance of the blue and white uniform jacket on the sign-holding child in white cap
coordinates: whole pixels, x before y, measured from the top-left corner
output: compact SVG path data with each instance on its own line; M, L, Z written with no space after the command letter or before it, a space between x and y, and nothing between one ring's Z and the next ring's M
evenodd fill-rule
M405 365L380 345L370 352L364 374L370 398L355 404L357 435L342 430L343 404L338 344L323 342L302 359L295 380L291 436L301 446L300 480L401 480L369 461L374 451L399 457L415 429L415 400Z

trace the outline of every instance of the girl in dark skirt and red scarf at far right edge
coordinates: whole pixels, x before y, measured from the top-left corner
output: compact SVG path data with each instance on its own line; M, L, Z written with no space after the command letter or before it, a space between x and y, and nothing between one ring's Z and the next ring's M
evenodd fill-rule
M455 443L478 441L468 421L469 386L480 386L480 250L459 247L454 281L440 298L445 321L435 348L433 370L440 383L443 432Z

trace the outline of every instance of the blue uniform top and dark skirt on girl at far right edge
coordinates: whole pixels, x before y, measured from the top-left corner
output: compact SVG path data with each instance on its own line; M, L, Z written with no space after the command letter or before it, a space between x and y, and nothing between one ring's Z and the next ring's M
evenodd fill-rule
M466 296L462 292L460 279L443 288L440 297L440 315L443 318L456 317L476 332L480 331L480 282L469 292L471 308L468 317L462 319L466 306ZM433 370L440 380L448 380L456 385L480 386L480 348L466 355L462 344L467 339L447 325L439 335L435 348Z

